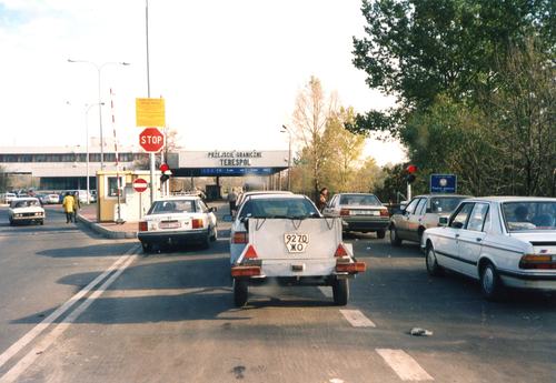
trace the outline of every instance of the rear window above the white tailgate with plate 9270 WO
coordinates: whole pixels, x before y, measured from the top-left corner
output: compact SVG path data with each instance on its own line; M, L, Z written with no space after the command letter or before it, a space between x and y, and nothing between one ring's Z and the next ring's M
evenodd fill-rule
M320 216L315 205L306 199L248 200L239 218L310 218Z

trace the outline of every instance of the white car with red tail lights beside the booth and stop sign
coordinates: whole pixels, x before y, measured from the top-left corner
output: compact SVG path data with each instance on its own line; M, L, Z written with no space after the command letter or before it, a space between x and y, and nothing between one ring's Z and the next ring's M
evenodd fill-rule
M139 222L137 236L145 252L155 244L200 243L209 248L218 238L215 211L196 195L157 200Z

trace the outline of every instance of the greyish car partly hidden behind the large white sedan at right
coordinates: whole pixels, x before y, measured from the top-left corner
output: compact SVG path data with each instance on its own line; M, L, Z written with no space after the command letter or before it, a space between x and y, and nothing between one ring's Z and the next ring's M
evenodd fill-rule
M405 209L390 218L390 243L399 246L401 241L420 242L423 232L438 226L440 216L449 216L461 200L468 195L424 194L415 196Z

